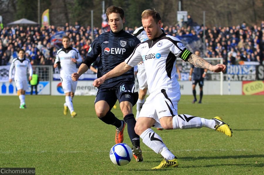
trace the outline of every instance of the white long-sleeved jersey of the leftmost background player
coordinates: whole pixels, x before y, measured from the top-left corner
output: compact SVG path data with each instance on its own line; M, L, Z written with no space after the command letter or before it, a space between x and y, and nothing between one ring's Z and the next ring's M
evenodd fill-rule
M27 58L14 58L10 70L9 70L9 79L12 79L13 69L15 69L15 81L27 81L27 73L29 71L29 76L32 77L33 69L30 64L30 60Z

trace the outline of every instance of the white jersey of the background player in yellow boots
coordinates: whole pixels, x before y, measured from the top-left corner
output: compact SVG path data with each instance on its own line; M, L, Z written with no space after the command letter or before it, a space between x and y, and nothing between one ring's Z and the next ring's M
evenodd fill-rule
M76 63L71 60L72 58L75 58L77 63L82 62L82 57L76 48L61 48L57 51L54 64L60 62L60 77L71 76L72 73L77 71Z

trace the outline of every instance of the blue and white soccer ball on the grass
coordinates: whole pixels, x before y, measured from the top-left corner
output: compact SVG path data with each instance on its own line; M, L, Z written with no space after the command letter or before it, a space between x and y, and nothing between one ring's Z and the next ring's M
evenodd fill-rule
M114 145L110 150L111 161L119 166L128 164L132 158L132 150L125 143L118 143Z

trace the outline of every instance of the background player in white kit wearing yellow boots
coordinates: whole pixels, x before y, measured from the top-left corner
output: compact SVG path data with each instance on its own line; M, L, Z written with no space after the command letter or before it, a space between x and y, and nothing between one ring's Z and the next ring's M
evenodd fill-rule
M54 68L60 68L60 79L62 89L65 93L64 115L70 110L71 116L75 117L77 113L73 109L72 99L76 90L77 82L72 81L71 74L76 72L76 63L82 62L82 57L76 48L70 47L70 38L62 37L63 48L57 51Z

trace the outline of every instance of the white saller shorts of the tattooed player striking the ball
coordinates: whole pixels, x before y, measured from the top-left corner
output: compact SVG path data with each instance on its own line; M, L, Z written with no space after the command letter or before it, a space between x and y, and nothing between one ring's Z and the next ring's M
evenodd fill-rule
M153 127L162 128L161 117L178 115L179 92L158 89L147 97L138 117L149 117L156 120Z

